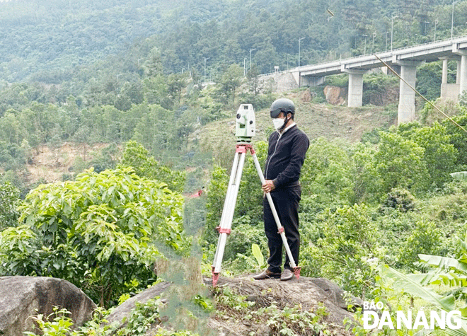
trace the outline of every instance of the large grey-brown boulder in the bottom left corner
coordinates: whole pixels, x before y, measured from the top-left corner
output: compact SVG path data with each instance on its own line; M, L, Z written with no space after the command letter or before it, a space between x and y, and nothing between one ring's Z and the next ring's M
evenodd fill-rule
M96 304L78 287L50 277L0 277L0 335L23 336L34 331L30 316L66 308L75 325L90 320Z

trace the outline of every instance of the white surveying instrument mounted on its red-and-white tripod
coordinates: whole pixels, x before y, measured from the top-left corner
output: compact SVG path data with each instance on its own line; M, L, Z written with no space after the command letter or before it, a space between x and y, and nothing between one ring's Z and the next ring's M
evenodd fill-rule
M233 212L235 211L235 204L237 202L238 188L240 187L241 174L243 171L243 165L245 163L246 153L250 151L255 162L256 171L260 177L261 184L265 183L265 177L263 170L261 170L260 163L256 157L255 150L251 145L251 138L255 136L256 122L255 122L255 110L253 105L242 104L238 108L236 115L236 127L235 136L237 139L236 152L233 158L232 170L230 173L229 187L227 187L226 199L224 201L224 208L222 209L221 224L217 226L219 231L219 241L217 242L216 254L214 255L214 262L212 263L212 285L216 286L219 280L219 273L221 272L222 257L224 257L224 250L226 247L227 236L231 233L231 226L233 220ZM297 267L292 257L287 238L285 237L284 227L280 224L279 216L277 215L276 208L272 202L272 197L269 192L266 192L267 202L269 202L272 216L277 224L279 235L282 238L285 250L289 257L289 262L294 269L296 279L300 277L300 268Z

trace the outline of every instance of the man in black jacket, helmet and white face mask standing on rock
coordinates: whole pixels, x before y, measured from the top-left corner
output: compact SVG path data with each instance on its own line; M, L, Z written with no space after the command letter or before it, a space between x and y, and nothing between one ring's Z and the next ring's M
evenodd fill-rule
M270 192L272 201L284 226L287 243L299 264L299 202L301 186L299 183L301 166L305 160L310 141L294 122L295 105L292 100L281 98L271 105L270 115L276 132L269 138L269 149L265 166L263 191ZM282 271L282 238L277 233L277 224L272 216L266 197L263 199L265 233L270 257L269 267L255 275L257 280L279 278L283 281L292 279L293 272L286 253L284 272Z

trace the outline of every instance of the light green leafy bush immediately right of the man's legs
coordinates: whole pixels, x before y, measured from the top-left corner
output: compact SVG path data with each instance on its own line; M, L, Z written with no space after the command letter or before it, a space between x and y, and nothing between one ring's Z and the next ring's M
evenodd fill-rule
M323 214L323 238L305 248L301 260L322 277L337 282L356 296L373 284L371 259L382 256L379 231L366 205L346 206ZM314 270L313 270L314 269Z

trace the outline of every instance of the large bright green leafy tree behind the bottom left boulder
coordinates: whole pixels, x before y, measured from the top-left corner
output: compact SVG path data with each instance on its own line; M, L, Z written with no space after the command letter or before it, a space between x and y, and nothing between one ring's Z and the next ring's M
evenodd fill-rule
M22 225L0 235L2 274L67 279L108 307L151 282L160 250L188 251L182 209L183 197L129 168L41 185L21 207Z

